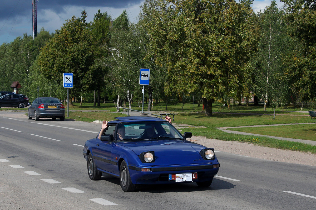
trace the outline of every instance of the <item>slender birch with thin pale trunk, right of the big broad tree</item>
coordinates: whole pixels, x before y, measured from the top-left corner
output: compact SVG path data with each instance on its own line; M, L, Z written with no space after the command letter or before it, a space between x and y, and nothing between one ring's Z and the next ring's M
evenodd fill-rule
M264 96L264 111L269 103L276 107L286 100L287 79L283 71L283 57L287 52L288 39L283 11L272 1L264 13L259 13L261 29L256 55L255 75L258 93Z

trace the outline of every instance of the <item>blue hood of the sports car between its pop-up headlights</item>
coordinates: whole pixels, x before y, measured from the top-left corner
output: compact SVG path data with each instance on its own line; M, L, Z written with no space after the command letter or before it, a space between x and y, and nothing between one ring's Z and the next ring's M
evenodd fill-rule
M205 162L205 160L199 154L199 152L205 147L191 142L126 142L123 143L122 146L133 150L137 156L142 152L155 151L155 165L194 164Z

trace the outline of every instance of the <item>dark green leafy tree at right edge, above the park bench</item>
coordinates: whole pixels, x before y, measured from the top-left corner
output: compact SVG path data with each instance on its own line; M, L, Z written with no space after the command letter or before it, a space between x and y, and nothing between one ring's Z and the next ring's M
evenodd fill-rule
M316 3L311 0L282 0L286 3L287 30L295 43L286 56L286 72L293 97L316 100Z

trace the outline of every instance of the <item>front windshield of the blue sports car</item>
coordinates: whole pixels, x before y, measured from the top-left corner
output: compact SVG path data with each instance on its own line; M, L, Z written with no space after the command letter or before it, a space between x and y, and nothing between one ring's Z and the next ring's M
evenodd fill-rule
M182 135L168 122L134 122L123 125L125 135L118 134L117 141L183 140Z

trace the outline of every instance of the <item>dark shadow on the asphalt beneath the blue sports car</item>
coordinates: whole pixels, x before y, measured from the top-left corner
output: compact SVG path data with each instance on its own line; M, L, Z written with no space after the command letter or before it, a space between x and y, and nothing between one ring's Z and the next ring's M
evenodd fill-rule
M120 186L118 178L111 175L102 174L101 180L111 182ZM151 193L166 193L166 192L196 192L206 190L225 190L234 188L234 184L221 180L213 179L209 187L199 187L196 183L177 183L177 184L137 184L134 191L136 192L151 192Z

